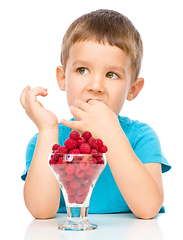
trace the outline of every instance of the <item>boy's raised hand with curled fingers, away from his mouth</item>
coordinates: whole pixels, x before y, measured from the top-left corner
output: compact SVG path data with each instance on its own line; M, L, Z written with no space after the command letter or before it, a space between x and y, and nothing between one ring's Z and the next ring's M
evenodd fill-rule
M48 92L46 88L36 87L30 89L30 86L27 86L20 96L20 102L23 108L39 130L58 128L58 119L55 114L46 110L42 104L37 101L37 96L46 97L47 95Z

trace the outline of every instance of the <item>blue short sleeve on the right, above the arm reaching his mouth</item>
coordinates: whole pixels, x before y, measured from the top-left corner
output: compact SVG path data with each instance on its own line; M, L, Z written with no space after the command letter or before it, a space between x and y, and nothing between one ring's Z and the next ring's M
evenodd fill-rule
M131 145L143 164L158 162L162 164L163 173L170 170L171 166L162 153L160 140L149 125L141 123L135 127Z

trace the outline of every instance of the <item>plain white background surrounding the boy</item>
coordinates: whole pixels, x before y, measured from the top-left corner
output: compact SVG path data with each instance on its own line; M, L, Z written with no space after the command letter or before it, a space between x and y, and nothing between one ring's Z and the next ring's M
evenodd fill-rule
M55 77L62 38L72 21L99 8L123 13L141 34L144 59L140 76L145 78L145 85L137 99L126 102L121 115L146 122L157 132L172 166L163 175L166 212L173 217L181 211L182 1L4 0L0 2L0 213L3 229L11 229L12 236L18 233L19 239L24 238L33 219L24 206L20 176L27 143L37 133L19 102L21 91L28 84L48 88L49 95L40 99L43 105L58 119L71 117L65 93L58 89Z

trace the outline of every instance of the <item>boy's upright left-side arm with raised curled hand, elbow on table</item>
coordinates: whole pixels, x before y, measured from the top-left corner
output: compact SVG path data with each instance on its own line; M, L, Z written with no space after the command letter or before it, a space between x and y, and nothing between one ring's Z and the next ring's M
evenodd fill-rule
M39 133L32 163L24 185L24 200L35 218L52 218L60 203L60 187L48 166L52 145L58 143L58 120L43 108L37 96L47 96L44 88L26 87L20 97L27 115L37 125Z

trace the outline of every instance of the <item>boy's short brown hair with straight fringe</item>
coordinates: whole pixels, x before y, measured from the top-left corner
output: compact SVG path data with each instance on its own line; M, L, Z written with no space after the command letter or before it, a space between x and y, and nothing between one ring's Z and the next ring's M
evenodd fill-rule
M143 44L139 32L123 14L100 9L76 19L68 28L62 42L61 64L63 69L69 57L70 47L81 41L116 46L131 58L132 81L138 78L143 57Z

